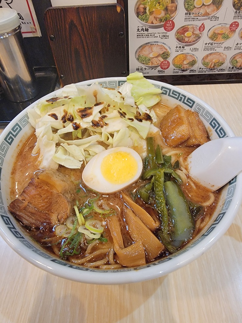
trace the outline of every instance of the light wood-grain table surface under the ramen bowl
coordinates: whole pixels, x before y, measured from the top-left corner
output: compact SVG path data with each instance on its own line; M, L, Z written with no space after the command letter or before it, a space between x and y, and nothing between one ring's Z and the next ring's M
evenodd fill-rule
M211 105L242 136L242 84L180 88ZM52 276L0 238L0 322L242 322L241 217L240 206L226 234L191 264L126 285L88 285Z

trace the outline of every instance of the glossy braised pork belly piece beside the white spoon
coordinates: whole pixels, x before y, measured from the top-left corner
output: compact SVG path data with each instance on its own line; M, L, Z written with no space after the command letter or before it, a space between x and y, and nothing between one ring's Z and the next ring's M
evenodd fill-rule
M160 130L170 147L198 147L208 141L206 128L198 113L180 105L167 112L160 123Z

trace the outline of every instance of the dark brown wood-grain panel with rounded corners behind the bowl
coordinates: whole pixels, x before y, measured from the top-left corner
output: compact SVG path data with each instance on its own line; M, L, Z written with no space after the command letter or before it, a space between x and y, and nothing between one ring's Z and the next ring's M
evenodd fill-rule
M45 27L61 85L125 76L125 14L120 5L52 7Z

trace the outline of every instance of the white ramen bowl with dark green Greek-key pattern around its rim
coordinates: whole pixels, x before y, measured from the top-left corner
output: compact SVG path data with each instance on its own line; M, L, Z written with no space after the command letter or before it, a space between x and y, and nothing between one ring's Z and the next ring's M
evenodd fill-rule
M93 82L98 82L103 87L116 88L125 81L126 78L100 78L84 81L81 84L90 85ZM226 121L201 99L166 83L149 81L156 88L162 90L163 103L169 104L171 107L180 104L186 109L197 111L211 139L234 136ZM45 98L50 99L54 94L55 92L52 92ZM33 107L34 104L31 104L30 107ZM102 270L70 264L49 254L35 244L26 234L22 225L8 212L7 206L11 202L9 199L9 178L12 164L21 142L29 136L31 130L33 128L28 122L25 109L5 128L0 136L0 234L17 254L53 275L90 284L124 284L164 276L192 262L214 245L229 228L236 215L237 206L241 202L242 173L223 188L218 207L208 225L179 252L146 266L116 270Z

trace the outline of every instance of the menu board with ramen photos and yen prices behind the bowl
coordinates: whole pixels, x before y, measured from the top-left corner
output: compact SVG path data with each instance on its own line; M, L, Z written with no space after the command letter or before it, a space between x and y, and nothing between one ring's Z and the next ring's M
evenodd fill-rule
M128 16L130 72L242 72L242 0L129 0Z

